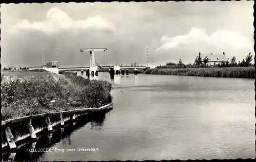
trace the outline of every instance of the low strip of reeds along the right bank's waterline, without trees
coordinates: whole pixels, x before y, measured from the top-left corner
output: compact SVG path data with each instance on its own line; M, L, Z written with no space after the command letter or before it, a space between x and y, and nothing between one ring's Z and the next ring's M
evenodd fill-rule
M253 66L209 68L154 68L147 69L145 71L145 74L254 79L254 71L255 68Z

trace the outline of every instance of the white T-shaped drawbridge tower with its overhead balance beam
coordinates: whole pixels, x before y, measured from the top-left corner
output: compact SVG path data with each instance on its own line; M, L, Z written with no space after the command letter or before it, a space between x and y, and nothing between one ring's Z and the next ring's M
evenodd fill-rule
M95 75L96 72L98 72L98 64L95 62L95 55L94 52L96 51L106 51L108 49L80 49L80 52L90 52L90 70L89 73L90 75Z

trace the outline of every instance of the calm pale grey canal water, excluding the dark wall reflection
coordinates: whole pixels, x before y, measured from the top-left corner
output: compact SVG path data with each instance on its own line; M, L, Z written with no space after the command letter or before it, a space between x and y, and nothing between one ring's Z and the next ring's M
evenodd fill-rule
M114 109L36 160L255 158L253 79L129 74L111 80L109 73L94 79L113 83Z

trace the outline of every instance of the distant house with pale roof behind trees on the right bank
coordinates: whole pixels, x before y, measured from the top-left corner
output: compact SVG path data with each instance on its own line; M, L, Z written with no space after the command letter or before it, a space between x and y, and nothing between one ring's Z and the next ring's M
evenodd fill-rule
M217 54L217 55L214 55L214 54L208 54L208 55L205 55L205 54L201 54L199 52L199 56L198 56L198 59L201 60L202 64L204 64L204 59L207 59L208 58L208 62L206 63L206 65L214 65L214 64L221 64L222 62L226 63L227 62L227 58L226 58L226 55L225 55L225 52L223 52L223 54Z

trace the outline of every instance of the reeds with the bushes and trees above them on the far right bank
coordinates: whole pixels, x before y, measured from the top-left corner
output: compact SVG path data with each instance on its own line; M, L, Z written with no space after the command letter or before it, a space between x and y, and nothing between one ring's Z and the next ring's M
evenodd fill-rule
M243 61L236 61L236 57L231 60L223 61L218 64L208 64L208 59L195 59L194 64L184 64L182 60L179 63L167 62L164 66L149 68L145 74L155 75L179 75L179 76L200 76L200 77L229 77L229 78L255 78L254 64L251 63L252 55L246 56Z

